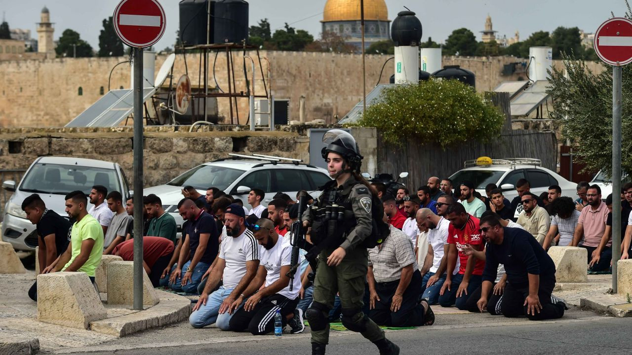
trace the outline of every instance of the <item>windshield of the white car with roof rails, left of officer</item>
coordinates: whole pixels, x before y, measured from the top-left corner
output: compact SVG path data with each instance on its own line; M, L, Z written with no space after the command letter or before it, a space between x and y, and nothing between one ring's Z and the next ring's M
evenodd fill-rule
M243 170L230 169L217 165L198 165L190 171L178 176L167 185L193 186L198 190L206 190L211 186L219 190L226 190L237 178L243 174Z

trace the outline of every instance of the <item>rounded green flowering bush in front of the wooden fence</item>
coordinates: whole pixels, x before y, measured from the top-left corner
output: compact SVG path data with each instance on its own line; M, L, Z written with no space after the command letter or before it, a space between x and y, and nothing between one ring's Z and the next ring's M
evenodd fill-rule
M358 124L377 128L388 143L402 145L413 138L446 147L490 141L500 135L504 120L473 87L458 80L428 80L385 89Z

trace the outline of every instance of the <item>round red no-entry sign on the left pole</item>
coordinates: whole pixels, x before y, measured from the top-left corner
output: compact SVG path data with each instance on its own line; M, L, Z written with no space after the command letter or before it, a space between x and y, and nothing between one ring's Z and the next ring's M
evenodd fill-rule
M114 30L123 43L145 48L161 39L164 9L156 0L123 0L114 9Z

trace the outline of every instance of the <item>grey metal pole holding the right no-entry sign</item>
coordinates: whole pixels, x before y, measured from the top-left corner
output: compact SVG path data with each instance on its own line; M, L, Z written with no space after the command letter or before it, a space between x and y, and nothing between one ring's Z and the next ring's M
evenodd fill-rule
M621 258L621 74L612 66L612 292L617 293L617 261Z

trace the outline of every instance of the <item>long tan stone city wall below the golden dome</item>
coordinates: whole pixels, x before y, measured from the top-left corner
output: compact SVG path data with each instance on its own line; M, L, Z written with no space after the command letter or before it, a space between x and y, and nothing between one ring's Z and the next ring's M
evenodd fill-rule
M267 85L268 73L272 78L272 93L276 99L290 100L290 120L298 120L299 99L305 96L306 121L324 119L325 123L335 123L362 99L362 61L357 54L336 54L320 52L262 51L261 65ZM265 94L261 66L256 52L246 52L255 59L255 93ZM155 73L158 72L166 55L156 57ZM380 69L391 56L367 55L367 93L379 79ZM186 55L185 60L178 54L173 75L188 72L193 87L200 77L199 54ZM90 107L109 88L130 86L130 66L127 57L57 58L40 60L2 61L0 65L0 127L41 127L64 126L71 119ZM252 78L249 59L243 59L242 52L233 52L234 84L237 92L246 92L243 71L245 60L246 77ZM213 63L216 61L215 70ZM116 66L116 64L123 62ZM443 65L458 64L477 75L477 90L493 90L502 81L526 80L523 72L502 75L504 64L522 63L525 59L516 57L444 57ZM270 64L268 64L270 63ZM526 63L525 63L526 64ZM589 68L600 70L594 63ZM559 66L558 61L555 62ZM114 68L116 66L116 68ZM112 68L114 68L112 70ZM187 70L188 69L188 70ZM220 52L217 58L209 56L209 83L217 83L222 90L228 90L226 54ZM111 76L110 76L111 73ZM386 64L380 83L387 83L393 73L392 61ZM168 80L167 80L168 83ZM232 84L232 81L231 81ZM79 95L79 93L82 95ZM248 99L237 99L240 123L245 124L248 116ZM219 115L229 117L228 99L218 99ZM150 108L151 109L151 108ZM228 118L224 121L229 123ZM235 121L236 123L236 121ZM131 124L131 123L130 123Z

